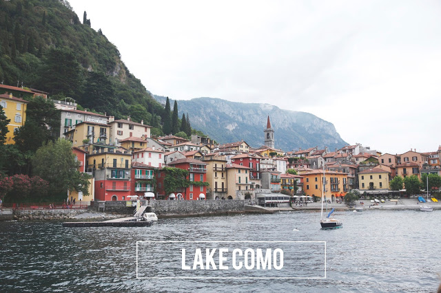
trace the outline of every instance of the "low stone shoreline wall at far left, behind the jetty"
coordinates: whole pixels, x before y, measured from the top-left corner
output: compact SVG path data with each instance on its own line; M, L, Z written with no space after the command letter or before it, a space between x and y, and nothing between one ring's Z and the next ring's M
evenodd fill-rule
M57 220L70 219L75 215L87 212L83 209L60 210L14 210L14 219L18 220Z

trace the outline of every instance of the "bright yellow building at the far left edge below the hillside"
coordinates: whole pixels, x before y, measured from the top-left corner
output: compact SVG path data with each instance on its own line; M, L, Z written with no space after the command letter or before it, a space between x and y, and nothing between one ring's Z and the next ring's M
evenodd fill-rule
M0 105L3 107L6 117L10 120L5 143L15 144L14 130L25 124L28 101L15 98L12 94L3 94L0 95Z

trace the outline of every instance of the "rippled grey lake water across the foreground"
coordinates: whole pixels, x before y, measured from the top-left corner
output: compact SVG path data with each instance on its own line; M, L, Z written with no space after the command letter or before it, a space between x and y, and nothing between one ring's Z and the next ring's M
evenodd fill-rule
M336 217L344 228L320 230L316 211L163 219L144 228L0 222L0 291L436 292L440 210ZM136 279L136 241L327 241L327 279ZM155 252L156 261L170 250Z

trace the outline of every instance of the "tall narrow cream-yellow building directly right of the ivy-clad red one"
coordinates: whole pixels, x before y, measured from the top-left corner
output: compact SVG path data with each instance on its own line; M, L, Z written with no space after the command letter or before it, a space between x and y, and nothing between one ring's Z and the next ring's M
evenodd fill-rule
M207 199L227 198L227 160L225 155L207 156Z

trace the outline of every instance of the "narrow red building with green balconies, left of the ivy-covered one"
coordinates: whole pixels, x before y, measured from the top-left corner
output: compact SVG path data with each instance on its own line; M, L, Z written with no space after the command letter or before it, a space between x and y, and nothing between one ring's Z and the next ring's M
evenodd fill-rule
M154 193L154 174L157 169L139 162L132 162L132 176L130 189L132 195L144 196L145 193Z

